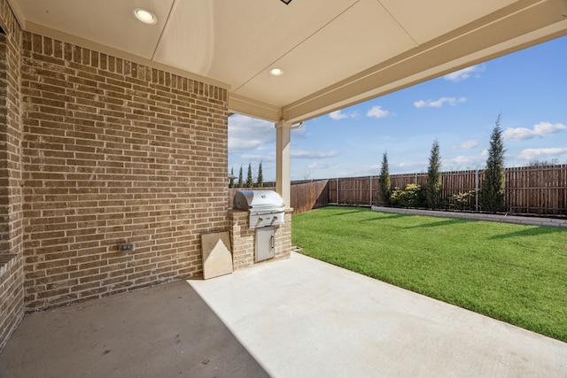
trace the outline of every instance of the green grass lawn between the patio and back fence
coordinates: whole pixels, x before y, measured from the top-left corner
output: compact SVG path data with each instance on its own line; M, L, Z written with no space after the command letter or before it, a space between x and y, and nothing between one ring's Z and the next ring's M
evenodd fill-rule
M567 230L324 207L302 253L567 342Z

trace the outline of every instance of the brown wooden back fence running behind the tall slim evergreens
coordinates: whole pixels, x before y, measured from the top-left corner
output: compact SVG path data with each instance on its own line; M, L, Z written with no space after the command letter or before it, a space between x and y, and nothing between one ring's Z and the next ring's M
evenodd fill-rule
M329 180L330 204L382 204L378 191L379 176L345 177ZM416 183L422 188L427 174L392 174L392 189ZM472 191L482 185L484 170L441 173L441 197ZM505 169L505 201L509 212L567 215L567 165L526 166ZM468 206L482 210L478 197L471 196Z

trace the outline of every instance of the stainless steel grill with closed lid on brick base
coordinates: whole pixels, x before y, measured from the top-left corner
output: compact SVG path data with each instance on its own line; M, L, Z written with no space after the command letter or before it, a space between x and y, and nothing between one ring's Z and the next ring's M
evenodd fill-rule
M250 212L250 228L283 225L285 205L274 190L237 191L232 208Z

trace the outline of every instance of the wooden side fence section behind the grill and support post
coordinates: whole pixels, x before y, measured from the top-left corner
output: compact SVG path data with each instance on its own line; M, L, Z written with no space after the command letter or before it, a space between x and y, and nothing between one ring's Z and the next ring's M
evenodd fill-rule
M232 201L237 190L276 190L276 187L229 189L229 208L232 208ZM307 212L327 204L329 204L329 180L291 183L291 207L294 214Z

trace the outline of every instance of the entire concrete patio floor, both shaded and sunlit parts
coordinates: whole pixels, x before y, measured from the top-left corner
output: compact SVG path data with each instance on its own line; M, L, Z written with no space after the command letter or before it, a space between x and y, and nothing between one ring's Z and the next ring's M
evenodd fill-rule
M1 377L267 374L567 377L567 343L293 253L32 313L0 354Z

